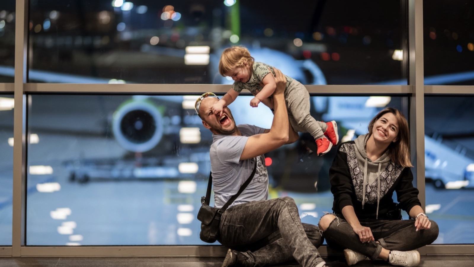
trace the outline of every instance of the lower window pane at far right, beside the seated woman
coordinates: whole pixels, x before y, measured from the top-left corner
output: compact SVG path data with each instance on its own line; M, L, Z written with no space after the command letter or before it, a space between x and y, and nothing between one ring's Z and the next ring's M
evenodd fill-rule
M474 96L425 96L426 211L436 243L474 240Z

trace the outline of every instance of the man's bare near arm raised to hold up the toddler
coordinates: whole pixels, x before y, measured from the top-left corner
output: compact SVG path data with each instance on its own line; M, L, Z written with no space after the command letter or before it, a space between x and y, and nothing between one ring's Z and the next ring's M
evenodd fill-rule
M240 160L254 158L268 153L289 141L288 112L286 110L284 91L286 79L282 72L275 70L276 90L273 94L273 116L272 127L263 134L255 134L247 139L244 150L240 155Z

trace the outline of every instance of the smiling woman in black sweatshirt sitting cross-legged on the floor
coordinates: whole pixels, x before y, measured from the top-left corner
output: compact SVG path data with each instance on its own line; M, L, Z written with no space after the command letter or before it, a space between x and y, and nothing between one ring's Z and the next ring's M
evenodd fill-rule
M329 169L334 214L324 215L319 228L329 246L346 248L347 265L369 257L417 266L414 249L438 237L438 225L421 208L410 167L408 123L394 108L379 112L368 134L339 146ZM400 209L414 220L401 220Z

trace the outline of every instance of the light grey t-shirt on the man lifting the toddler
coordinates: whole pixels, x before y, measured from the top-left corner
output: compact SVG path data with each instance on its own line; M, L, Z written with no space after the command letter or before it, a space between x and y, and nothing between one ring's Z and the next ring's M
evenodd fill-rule
M214 185L214 202L216 208L224 204L235 194L248 179L254 169L255 158L240 161L248 136L262 134L264 128L254 125L237 125L242 136L213 134L210 146L212 183ZM266 200L268 197L268 172L264 155L256 157L255 176L229 207L250 201Z

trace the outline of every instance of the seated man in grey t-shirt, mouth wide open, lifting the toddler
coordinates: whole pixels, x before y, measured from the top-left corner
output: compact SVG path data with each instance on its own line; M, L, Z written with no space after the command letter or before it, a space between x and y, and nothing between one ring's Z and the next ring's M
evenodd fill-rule
M210 147L215 207L221 208L237 193L256 164L255 176L221 218L219 242L228 247L222 267L264 266L296 259L302 267L326 266L316 247L322 244L319 228L301 224L290 197L267 200L268 173L264 153L298 140L288 121L283 91L286 79L275 69L274 117L270 129L236 125L228 107L214 114L219 98L206 93L196 101L202 124L213 133Z

